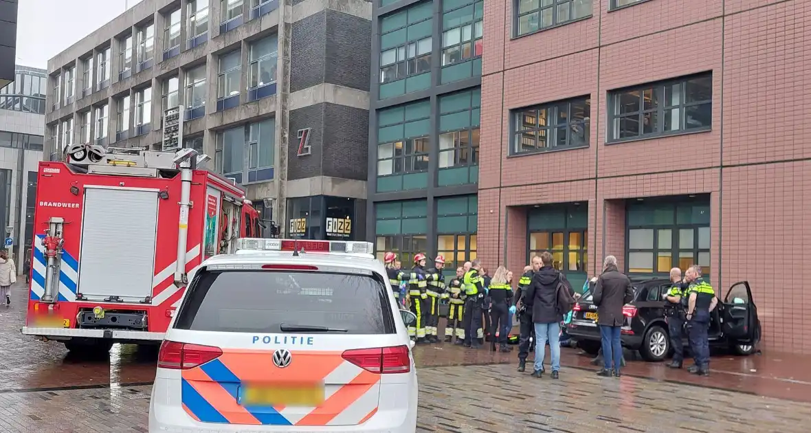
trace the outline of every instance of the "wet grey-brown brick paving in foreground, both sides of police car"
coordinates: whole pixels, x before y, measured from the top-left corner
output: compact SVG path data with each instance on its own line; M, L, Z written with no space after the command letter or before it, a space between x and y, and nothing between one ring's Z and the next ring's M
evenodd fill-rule
M564 370L534 379L507 365L418 371L418 431L759 431L805 432L811 404L739 392L605 379ZM150 387L0 393L0 431L148 431ZM497 408L497 409L492 409Z

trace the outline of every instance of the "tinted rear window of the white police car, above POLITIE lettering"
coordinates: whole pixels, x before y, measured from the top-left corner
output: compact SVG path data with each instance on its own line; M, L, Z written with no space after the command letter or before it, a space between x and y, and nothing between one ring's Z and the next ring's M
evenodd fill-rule
M272 333L323 327L336 331L318 333L395 332L385 285L367 275L201 271L188 290L174 328Z

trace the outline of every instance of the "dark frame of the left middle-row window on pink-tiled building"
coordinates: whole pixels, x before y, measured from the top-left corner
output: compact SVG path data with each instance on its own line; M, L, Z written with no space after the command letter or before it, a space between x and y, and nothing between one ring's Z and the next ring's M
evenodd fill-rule
M572 107L573 104L578 104L583 106L583 117L581 119L572 121L571 114L572 114ZM566 115L564 116L565 120L562 123L558 123L560 121L560 108L562 105L566 105ZM526 118L526 114L530 111L534 111L534 127L528 128L521 128L518 129L518 126L522 124L524 118ZM541 111L546 111L544 114L545 118L543 119L546 122L545 125L541 126L540 124L540 113ZM587 115L586 115L587 114ZM554 123L551 123L554 121ZM573 126L581 126L583 128L583 139L581 143L572 143L572 127ZM560 129L564 128L566 131L566 144L560 146L557 145L558 142L558 134L560 133ZM540 147L540 132L544 132L546 146L543 148ZM519 143L523 144L523 139L528 137L523 137L522 135L526 135L527 133L534 133L534 148L530 148L530 150L519 150ZM518 141L520 139L520 142ZM588 148L591 142L591 96L577 96L569 99L564 99L560 101L551 101L544 104L539 105L530 105L529 107L525 108L518 108L518 109L511 109L510 110L510 145L508 150L508 156L521 156L521 155L534 155L536 153L545 153L545 152L556 152L556 151L563 151L563 150L570 150L570 149L579 149L579 148ZM555 143L555 146L550 146L550 143Z

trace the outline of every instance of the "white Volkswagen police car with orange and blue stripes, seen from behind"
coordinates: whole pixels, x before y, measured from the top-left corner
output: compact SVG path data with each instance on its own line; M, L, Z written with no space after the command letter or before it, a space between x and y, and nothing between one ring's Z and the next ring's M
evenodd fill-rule
M414 315L371 243L237 245L191 276L158 355L149 431L416 431Z

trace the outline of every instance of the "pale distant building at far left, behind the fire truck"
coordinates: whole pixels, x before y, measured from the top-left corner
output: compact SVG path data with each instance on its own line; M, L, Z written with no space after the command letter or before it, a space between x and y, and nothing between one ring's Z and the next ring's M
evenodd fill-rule
M0 88L0 229L15 257L30 256L34 238L37 165L42 161L47 71L16 66ZM22 259L18 259L22 264ZM23 272L23 267L18 266Z

